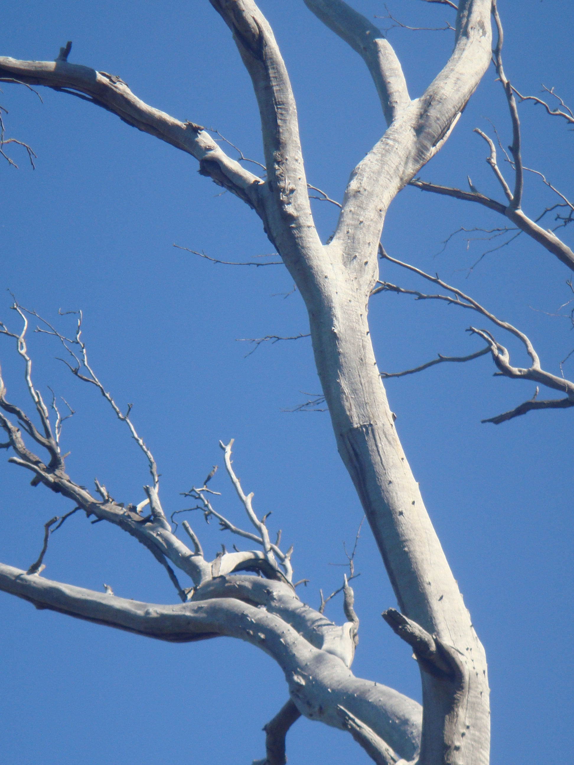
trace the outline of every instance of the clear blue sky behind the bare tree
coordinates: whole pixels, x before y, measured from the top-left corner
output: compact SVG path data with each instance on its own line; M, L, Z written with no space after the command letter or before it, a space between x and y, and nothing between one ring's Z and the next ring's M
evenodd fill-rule
M263 0L263 11L289 67L301 123L308 180L341 199L347 178L383 130L362 61L302 2ZM452 12L439 5L391 0L393 15L416 26L441 26ZM566 0L501 0L504 61L519 90L555 86L572 93L574 11ZM382 2L354 0L367 16ZM255 99L227 27L204 2L22 2L2 14L0 51L51 60L73 41L70 61L119 74L147 103L180 119L219 129L246 156L261 161ZM383 23L383 22L381 22ZM448 57L449 32L395 29L389 39L412 95L422 92ZM7 135L38 155L31 171L0 164L0 285L46 317L82 308L84 338L97 373L116 401L134 403L133 421L158 461L169 512L179 493L221 462L220 438L236 439L235 465L255 492L259 513L295 545L303 597L341 584L342 542L352 542L360 504L338 457L327 414L283 412L318 392L308 340L269 344L244 358L237 338L307 331L298 294L282 266L232 268L174 249L203 249L224 260L272 252L255 213L197 174L197 163L119 119L61 93L44 103L3 85ZM520 107L525 164L572 196L572 134L540 109ZM510 142L500 86L489 70L447 146L422 177L475 186L501 198L484 163L490 118ZM9 148L9 147L8 147ZM232 151L232 150L230 150ZM233 153L233 152L232 152ZM0 158L1 159L1 158ZM506 168L506 172L508 169ZM524 208L536 215L553 197L527 177ZM321 236L336 210L315 203ZM383 243L391 255L438 271L513 322L535 343L547 369L574 347L569 323L549 317L569 299L569 273L523 237L486 256L489 243L442 241L459 226L500 226L494 213L407 189L393 202ZM549 223L550 225L550 223ZM481 235L478 235L481 236ZM564 234L572 246L572 233ZM416 287L385 266L389 281ZM15 326L8 293L0 319ZM380 295L371 301L371 330L380 369L415 366L436 353L478 350L465 334L468 316L442 305ZM464 312L460 311L461 314ZM500 338L503 342L507 338ZM70 474L89 486L96 476L116 498L142 500L145 459L101 396L54 360L46 337L31 338L35 379L51 385L77 411L64 425ZM522 351L509 347L517 363ZM24 403L22 370L5 339L0 359L8 394ZM570 379L574 356L565 366ZM490 666L492 762L567 762L572 734L572 412L535 412L494 427L481 418L530 398L533 384L493 378L489 357L456 368L435 367L390 380L396 425L429 513L484 643ZM27 568L41 548L43 524L64 509L28 475L0 462L0 560ZM214 479L220 507L240 522L223 471ZM233 540L193 519L214 554ZM145 601L171 602L171 584L128 535L73 516L51 539L49 578ZM356 605L361 620L357 675L419 698L409 650L380 612L395 601L380 556L364 527L357 553ZM287 698L282 673L250 646L212 640L183 646L36 611L0 594L0 737L9 765L158 765L249 763L263 757L263 724ZM344 619L341 602L328 615ZM183 755L182 755L183 753ZM289 734L298 765L366 763L348 734L298 721Z

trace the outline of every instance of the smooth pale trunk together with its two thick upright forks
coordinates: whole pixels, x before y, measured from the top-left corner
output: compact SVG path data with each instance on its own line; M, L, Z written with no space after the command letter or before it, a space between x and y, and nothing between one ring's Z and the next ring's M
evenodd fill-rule
M487 763L484 649L400 446L377 369L367 301L390 201L439 151L491 58L490 2L461 2L455 50L420 99L396 114L351 174L334 239L318 242L306 191L289 77L250 2L215 2L253 80L269 181L266 226L308 308L315 363L334 435L401 610L464 656L455 681L422 672L419 762ZM344 3L323 5L337 15ZM256 20L256 21L255 21Z

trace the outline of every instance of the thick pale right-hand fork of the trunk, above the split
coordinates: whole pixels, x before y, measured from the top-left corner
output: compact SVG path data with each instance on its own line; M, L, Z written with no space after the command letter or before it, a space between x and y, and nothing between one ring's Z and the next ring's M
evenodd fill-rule
M488 68L490 10L490 0L461 0L445 67L351 174L331 247L352 264L367 295L377 278L373 256L390 202L442 148Z

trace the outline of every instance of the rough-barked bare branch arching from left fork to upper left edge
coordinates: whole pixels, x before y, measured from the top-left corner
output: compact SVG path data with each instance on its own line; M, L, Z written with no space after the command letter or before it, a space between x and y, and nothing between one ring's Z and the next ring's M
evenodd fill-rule
M256 207L257 189L263 183L259 177L228 157L201 125L181 122L148 106L134 96L129 86L116 75L68 63L67 57L58 57L55 61L20 61L0 57L0 81L15 80L25 85L42 85L60 93L80 96L96 106L102 106L128 125L191 154L199 161L202 175L227 188L250 207Z

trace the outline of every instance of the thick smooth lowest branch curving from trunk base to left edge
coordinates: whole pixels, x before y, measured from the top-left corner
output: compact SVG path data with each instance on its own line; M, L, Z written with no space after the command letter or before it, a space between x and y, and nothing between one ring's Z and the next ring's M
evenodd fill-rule
M343 705L401 757L411 759L418 753L421 708L416 702L384 685L355 678L340 659L311 646L265 608L234 597L180 605L141 603L28 576L3 564L0 590L38 608L156 640L190 643L216 636L244 640L276 660L285 672L292 701L306 717L344 728L338 715L338 705Z

